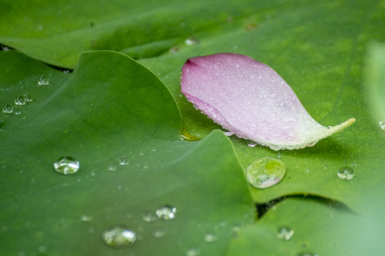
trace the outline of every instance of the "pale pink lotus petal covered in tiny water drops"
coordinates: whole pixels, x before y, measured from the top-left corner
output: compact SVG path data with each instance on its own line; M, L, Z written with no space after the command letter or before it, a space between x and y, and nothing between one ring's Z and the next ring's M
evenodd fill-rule
M198 110L238 137L271 149L314 146L355 122L317 123L272 68L248 56L217 53L189 58L181 90Z

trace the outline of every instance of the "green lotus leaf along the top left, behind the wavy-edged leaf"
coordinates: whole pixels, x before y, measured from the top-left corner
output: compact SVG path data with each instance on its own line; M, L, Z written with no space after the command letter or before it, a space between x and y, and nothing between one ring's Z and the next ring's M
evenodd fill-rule
M1 1L0 43L44 62L75 67L85 50L160 55L191 34L265 9L255 1ZM251 9L252 7L252 9Z

